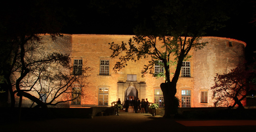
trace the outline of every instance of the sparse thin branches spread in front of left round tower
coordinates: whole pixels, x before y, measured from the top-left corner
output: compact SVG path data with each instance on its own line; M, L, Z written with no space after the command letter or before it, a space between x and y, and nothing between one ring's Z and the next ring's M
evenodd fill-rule
M39 42L39 43L38 43ZM22 73L23 66L17 60L15 71L13 71L13 77L16 84L19 85L21 91L29 93L29 99L37 103L37 107L42 106L42 101L45 105L56 105L58 103L64 103L77 99L82 95L81 87L86 87L87 82L85 78L89 75L87 71L90 67L83 65L83 74L73 74L73 67L70 67L69 55L63 55L61 53L47 53L44 44L41 41L32 43L31 41L27 46L33 46L33 50L26 51L24 56L25 69L29 72L22 78L22 81L17 83L17 80L21 76L17 76ZM80 87L79 91L72 89L73 87ZM16 87L17 88L17 87ZM14 93L19 90L15 90ZM34 97L38 99L33 99ZM74 96L75 95L75 96ZM85 93L83 93L85 95ZM34 104L34 103L33 103ZM33 106L33 105L32 105Z

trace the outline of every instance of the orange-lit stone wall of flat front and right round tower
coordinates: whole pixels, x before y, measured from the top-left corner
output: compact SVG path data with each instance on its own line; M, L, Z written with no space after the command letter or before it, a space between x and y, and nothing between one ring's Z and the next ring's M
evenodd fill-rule
M151 74L141 77L143 65L147 64L150 59L140 59L136 63L128 62L128 66L117 73L112 70L118 57L110 58L112 51L108 43L120 44L122 41L128 43L129 38L132 37L129 35L72 35L72 58L83 58L87 60L87 66L93 68L90 73L91 77L88 79L89 87L86 88L86 93L90 94L83 98L83 105L98 105L99 87L109 88L109 103L117 101L117 82L126 82L127 74L136 74L138 83L146 83L146 98L149 102L154 102L154 89L160 88L160 84L165 80L152 77ZM191 77L180 77L177 82L176 96L181 99L181 90L191 90L192 107L213 106L210 88L215 73L222 73L226 68L232 69L239 62L244 61L244 42L218 37L203 37L201 41L208 42L207 46L198 51L191 50L189 53L192 55L192 58L188 59L191 63ZM229 41L232 41L233 47L229 47ZM158 44L161 46L160 42ZM110 60L109 75L99 75L100 59ZM175 67L171 67L170 70L174 73ZM200 103L201 91L208 91L208 103Z

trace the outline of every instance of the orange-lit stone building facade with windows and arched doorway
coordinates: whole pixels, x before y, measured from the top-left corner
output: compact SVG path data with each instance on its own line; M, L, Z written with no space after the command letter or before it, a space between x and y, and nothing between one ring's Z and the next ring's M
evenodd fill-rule
M110 57L112 50L109 43L128 43L132 35L64 34L64 37L57 37L55 42L47 36L42 37L50 51L70 54L72 66L92 68L86 80L89 84L81 87L83 96L70 102L70 105L111 106L118 98L124 103L125 99L138 97L162 106L164 99L160 84L165 82L164 78L151 74L142 77L141 74L150 58L128 62L128 66L122 70L113 71L119 58ZM213 106L210 88L216 73L231 70L245 60L245 42L223 37L203 37L200 41L208 43L203 49L189 52L192 57L184 62L177 82L176 96L181 100L182 107ZM163 71L157 65L154 70ZM175 67L170 67L170 70L174 72Z

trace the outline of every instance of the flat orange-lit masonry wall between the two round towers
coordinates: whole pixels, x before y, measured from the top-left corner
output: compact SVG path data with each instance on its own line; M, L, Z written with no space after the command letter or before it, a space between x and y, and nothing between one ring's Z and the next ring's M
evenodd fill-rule
M90 72L90 77L87 78L89 85L85 88L86 96L82 98L82 104L84 106L97 106L98 105L98 88L109 88L109 104L113 101L117 101L117 82L126 82L127 74L136 74L137 82L145 82L147 85L146 98L149 102L154 102L154 89L160 88L160 84L164 83L164 78L153 77L151 74L146 74L145 77L141 77L141 70L143 66L151 60L139 59L136 62L128 62L128 66L124 69L114 72L112 69L117 61L118 57L111 58L112 51L109 49L109 43L120 44L122 41L128 44L128 40L133 36L128 35L94 35L94 34L81 34L72 35L72 60L83 59L87 61L86 65L90 66L93 70ZM161 46L161 42L158 42L158 46ZM189 53L193 55L193 51ZM175 56L173 56L173 59ZM99 75L99 66L101 59L110 60L110 72L109 75ZM188 61L191 62L191 69L193 69L193 57ZM175 67L171 67L171 72L175 72ZM193 71L191 71L193 74ZM180 96L182 88L193 88L193 77L181 77L177 84L177 96Z

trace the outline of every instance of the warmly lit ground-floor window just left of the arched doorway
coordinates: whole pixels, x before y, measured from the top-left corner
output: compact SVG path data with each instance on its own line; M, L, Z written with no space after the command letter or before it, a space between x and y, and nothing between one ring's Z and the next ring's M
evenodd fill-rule
M99 88L99 106L108 106L109 88Z

